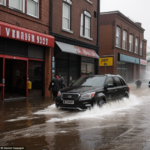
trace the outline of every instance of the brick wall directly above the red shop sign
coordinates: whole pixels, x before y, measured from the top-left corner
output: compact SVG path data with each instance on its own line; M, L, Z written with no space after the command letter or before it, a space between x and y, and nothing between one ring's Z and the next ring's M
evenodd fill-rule
M0 21L12 25L49 34L49 0L40 1L40 18L31 17L25 13L20 13L13 9L0 5Z

